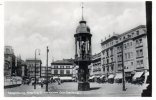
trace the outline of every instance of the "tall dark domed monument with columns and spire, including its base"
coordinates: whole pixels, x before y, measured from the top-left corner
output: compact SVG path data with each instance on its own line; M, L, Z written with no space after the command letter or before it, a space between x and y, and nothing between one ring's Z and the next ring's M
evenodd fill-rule
M76 29L75 37L75 64L78 68L78 90L86 91L90 89L89 69L88 65L91 63L91 37L90 28L86 25L83 18L83 5L82 5L82 20Z

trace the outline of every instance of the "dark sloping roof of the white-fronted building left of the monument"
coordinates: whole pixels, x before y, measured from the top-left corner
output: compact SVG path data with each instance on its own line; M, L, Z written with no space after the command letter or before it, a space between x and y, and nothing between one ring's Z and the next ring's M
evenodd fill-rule
M63 60L57 60L51 63L51 65L73 65L74 59L63 59Z

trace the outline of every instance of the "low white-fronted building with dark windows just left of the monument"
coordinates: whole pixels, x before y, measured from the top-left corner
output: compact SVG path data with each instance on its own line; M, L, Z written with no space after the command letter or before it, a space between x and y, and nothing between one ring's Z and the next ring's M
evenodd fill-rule
M54 61L51 63L52 76L58 76L58 77L70 76L70 77L73 77L74 67L75 67L75 64L74 64L73 59L63 59L63 60ZM74 71L74 73L76 73L76 71Z

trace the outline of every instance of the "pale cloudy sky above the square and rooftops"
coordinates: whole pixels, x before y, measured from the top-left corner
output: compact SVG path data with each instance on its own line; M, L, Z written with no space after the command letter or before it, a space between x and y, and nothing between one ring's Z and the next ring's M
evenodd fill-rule
M144 2L84 2L84 19L91 29L92 54L101 51L101 40L146 24ZM81 2L7 1L4 6L4 45L22 59L74 58L74 34L81 20Z

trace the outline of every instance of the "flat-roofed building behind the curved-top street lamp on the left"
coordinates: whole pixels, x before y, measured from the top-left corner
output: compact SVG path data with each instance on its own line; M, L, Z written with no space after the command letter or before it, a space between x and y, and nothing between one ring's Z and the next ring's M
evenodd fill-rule
M36 77L39 78L41 77L41 66L42 66L42 61L40 59L26 59L26 64L28 68L28 76L30 78L35 77L35 62L36 62Z

